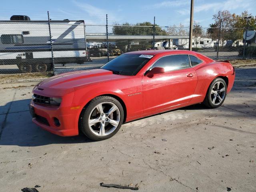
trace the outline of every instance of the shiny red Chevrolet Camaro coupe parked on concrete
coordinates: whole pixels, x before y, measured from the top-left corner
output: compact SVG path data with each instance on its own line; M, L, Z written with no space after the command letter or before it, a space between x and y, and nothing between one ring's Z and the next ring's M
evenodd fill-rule
M186 50L122 54L99 69L48 78L33 90L32 121L60 136L112 137L123 122L204 103L219 107L235 78L228 61Z

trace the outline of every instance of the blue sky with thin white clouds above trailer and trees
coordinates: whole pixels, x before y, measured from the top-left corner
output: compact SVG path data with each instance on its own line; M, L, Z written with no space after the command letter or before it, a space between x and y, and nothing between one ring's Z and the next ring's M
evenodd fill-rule
M218 10L240 14L244 10L256 15L255 0L195 0L194 20L207 27ZM156 24L189 26L190 0L4 0L0 20L14 14L30 16L31 20L46 20L47 10L52 20L85 20L88 24L109 24L150 21Z

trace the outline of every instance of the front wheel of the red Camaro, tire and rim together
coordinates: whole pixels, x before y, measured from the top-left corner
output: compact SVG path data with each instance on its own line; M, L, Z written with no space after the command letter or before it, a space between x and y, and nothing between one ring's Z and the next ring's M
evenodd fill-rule
M124 110L118 100L99 96L89 102L80 114L80 130L92 140L108 139L122 126Z

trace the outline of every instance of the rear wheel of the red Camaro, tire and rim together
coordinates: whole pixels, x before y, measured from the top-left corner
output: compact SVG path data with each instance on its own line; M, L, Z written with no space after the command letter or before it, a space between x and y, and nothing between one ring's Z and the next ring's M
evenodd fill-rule
M227 85L222 78L216 78L210 84L203 104L209 108L217 108L226 98Z

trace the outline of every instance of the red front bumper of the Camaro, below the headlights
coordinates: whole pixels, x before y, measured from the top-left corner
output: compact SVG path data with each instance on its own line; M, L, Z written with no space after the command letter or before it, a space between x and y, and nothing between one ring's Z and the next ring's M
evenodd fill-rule
M78 110L70 107L36 104L31 100L30 106L34 108L35 117L32 118L39 127L59 136L78 135ZM54 123L57 118L60 125Z

